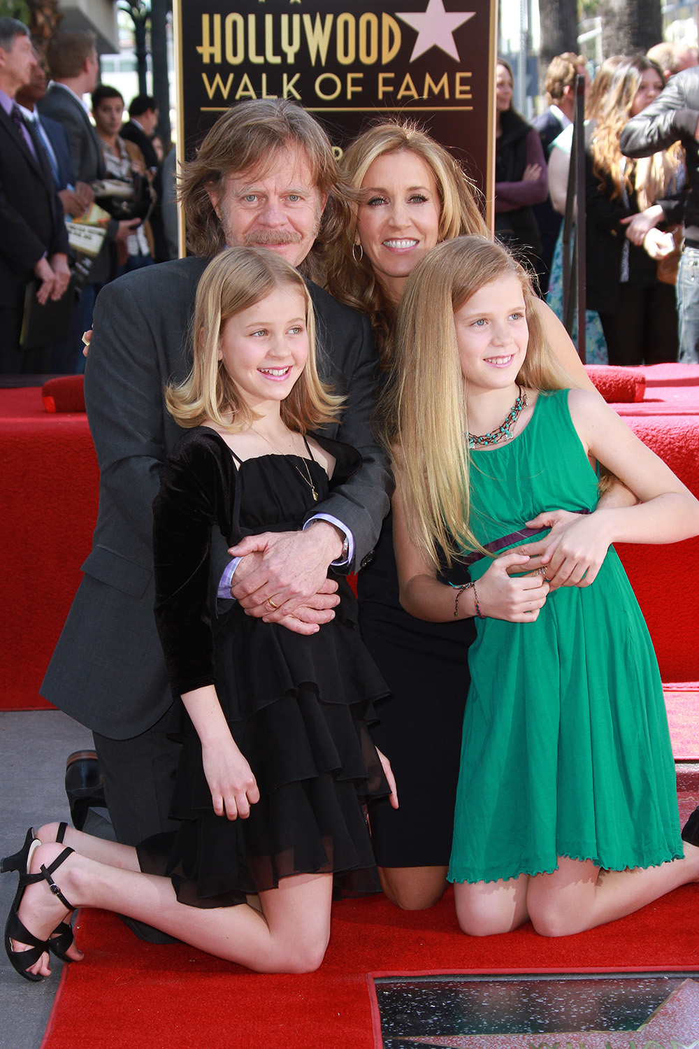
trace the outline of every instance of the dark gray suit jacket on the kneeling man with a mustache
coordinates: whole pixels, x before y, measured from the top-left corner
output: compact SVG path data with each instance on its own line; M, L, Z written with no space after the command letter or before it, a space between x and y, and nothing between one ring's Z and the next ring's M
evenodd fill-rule
M160 464L181 434L166 409L163 383L189 372L187 334L204 267L205 260L188 258L127 274L100 293L94 313L85 402L100 464L100 513L42 694L111 738L144 732L172 702L153 616L152 504ZM370 428L376 355L367 318L309 288L321 378L347 398L342 425L323 432L364 458L318 509L352 532L355 568L376 541L392 487Z

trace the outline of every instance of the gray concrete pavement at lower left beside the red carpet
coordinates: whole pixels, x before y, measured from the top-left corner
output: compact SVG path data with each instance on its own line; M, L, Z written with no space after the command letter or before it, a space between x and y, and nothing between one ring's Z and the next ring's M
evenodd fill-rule
M63 788L66 757L92 746L88 729L59 710L0 712L0 856L16 852L27 827L70 821ZM0 876L4 927L17 891L17 875ZM0 956L0 1049L39 1049L59 986L62 963L51 958L51 977L29 983ZM81 1033L75 1032L75 1042Z

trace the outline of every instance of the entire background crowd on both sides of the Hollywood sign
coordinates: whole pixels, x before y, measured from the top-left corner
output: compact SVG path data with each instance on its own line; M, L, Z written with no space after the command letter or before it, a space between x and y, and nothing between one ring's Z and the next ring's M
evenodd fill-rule
M45 58L40 58L28 34L18 47L13 34L0 39L0 98L7 116L3 127L10 136L20 127L25 141L13 143L14 151L22 155L16 157L10 150L6 163L12 164L15 176L32 165L31 176L40 175L48 185L30 188L31 177L25 172L27 177L17 179L15 191L14 178L3 178L3 186L10 187L8 220L17 224L24 242L38 237L44 255L29 264L28 258L20 260L9 251L1 260L12 269L13 278L8 277L6 301L0 305L6 319L0 373L72 373L84 367L80 338L91 327L100 288L133 269L176 257L175 153L156 133L155 98L136 95L127 114L116 88L97 86L92 35L59 33L49 41ZM583 76L587 361L653 364L675 361L678 354L680 360L697 361L699 304L695 306L693 297L697 283L693 253L698 249L692 237L685 241L683 275L676 290L686 210L693 207L689 192L693 172L687 177L683 140L693 140L694 130L682 126L670 130L669 121L663 122L659 113L653 124L655 143L628 140L628 152L621 148L626 125L631 122L640 128L637 117L641 113L650 119L654 100L668 80L697 68L697 49L660 43L645 58L608 58L593 78L589 65L584 56L572 51L556 56L545 79L548 107L528 124L512 106L512 69L504 59L498 60L496 236L536 273L538 294L563 319L562 216L568 194L575 82ZM690 91L699 92L699 74L692 77ZM87 95L91 98L89 111L83 101ZM664 111L680 110L680 102L670 103ZM689 102L686 108L692 108ZM643 155L649 151L650 155ZM634 152L639 159L631 158ZM139 211L129 211L123 204L116 207L121 197L114 201L108 195L115 181L130 187L127 192L140 199ZM109 212L106 216L103 215L104 241L96 258L84 261L68 284L61 258L65 255L68 260L70 249L62 242L60 216L85 221L95 202ZM66 250L57 253L52 249L59 240ZM58 261L60 274L50 260ZM42 302L70 297L72 317L65 337L21 349L24 292L31 278Z

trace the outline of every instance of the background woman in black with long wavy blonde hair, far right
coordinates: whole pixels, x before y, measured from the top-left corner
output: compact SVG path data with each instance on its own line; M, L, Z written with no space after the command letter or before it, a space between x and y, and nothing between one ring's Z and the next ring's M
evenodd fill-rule
M680 217L683 164L673 149L641 162L619 149L627 121L663 86L642 56L620 65L586 155L587 305L599 313L610 364L677 359L675 288L658 280L642 244L651 229Z

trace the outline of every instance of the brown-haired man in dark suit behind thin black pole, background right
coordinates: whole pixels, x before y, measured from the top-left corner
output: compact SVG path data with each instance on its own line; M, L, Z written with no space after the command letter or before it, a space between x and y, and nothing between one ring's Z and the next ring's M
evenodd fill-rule
M548 109L541 116L537 116L531 124L539 131L547 163L553 140L558 138L561 132L572 123L575 109L575 77L578 72L586 76L585 58L573 51L556 55L546 70ZM548 291L553 252L563 218L553 209L550 197L546 197L543 204L536 205L533 212L542 242L537 273L541 294L545 296Z

